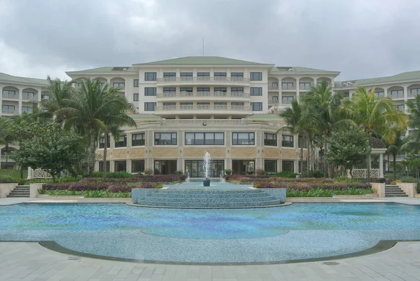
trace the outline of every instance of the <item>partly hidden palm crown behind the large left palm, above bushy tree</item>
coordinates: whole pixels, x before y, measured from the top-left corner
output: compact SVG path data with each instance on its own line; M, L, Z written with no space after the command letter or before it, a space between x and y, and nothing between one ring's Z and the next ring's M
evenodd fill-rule
M48 80L48 92L50 93L50 98L48 100L42 100L41 105L45 108L45 114L50 118L56 118L56 121L60 124L64 121L64 116L57 115L58 109L64 107L64 101L68 100L71 97L73 88L71 87L71 82L61 81L59 78L51 80L50 76L47 77Z

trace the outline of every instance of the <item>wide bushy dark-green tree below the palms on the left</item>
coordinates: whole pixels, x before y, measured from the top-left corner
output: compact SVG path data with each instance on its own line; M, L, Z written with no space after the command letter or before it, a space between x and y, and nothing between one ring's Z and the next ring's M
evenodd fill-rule
M18 129L18 128L16 128ZM26 135L20 128L22 135ZM20 141L20 148L10 152L17 165L42 169L49 172L55 181L60 172L85 158L86 149L82 139L73 132L61 130L58 123L30 124L27 135Z

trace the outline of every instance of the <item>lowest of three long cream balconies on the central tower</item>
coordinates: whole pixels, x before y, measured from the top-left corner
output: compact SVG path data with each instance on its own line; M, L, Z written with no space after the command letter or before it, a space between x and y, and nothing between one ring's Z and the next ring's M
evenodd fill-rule
M155 111L158 114L252 114L252 107L244 105L158 105L155 107Z

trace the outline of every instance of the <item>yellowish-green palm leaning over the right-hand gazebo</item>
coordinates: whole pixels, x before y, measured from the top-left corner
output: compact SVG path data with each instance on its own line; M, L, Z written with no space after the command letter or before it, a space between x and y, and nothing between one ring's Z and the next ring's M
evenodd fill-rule
M344 114L343 124L361 128L371 139L379 137L388 144L395 141L396 132L407 128L407 114L395 109L393 100L388 97L378 100L374 88L367 91L358 86L353 97L344 100L341 111ZM367 156L367 181L370 181L370 155Z

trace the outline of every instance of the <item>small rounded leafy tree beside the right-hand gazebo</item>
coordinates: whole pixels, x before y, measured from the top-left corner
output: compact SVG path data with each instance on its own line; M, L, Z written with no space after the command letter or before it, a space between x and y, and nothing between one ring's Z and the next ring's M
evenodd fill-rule
M370 155L369 135L360 129L333 132L325 157L335 167L353 170L353 166L365 163Z

